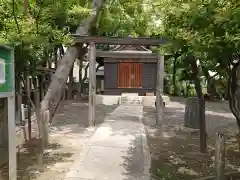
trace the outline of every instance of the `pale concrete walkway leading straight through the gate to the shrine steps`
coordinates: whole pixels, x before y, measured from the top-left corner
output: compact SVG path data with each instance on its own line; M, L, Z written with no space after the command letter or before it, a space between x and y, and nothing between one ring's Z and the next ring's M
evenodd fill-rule
M149 180L143 107L121 105L107 116L65 180Z

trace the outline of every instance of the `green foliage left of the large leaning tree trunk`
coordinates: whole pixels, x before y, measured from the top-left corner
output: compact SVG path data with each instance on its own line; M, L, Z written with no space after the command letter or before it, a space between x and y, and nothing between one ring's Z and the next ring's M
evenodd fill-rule
M77 0L0 1L0 42L15 48L16 74L35 71L37 64L52 59L54 48L69 44L66 28L73 29L90 11Z

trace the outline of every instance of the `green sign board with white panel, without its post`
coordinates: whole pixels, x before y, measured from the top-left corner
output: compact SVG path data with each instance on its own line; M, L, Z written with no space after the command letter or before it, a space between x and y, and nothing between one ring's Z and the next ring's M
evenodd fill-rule
M13 50L0 45L0 94L14 91L14 58Z

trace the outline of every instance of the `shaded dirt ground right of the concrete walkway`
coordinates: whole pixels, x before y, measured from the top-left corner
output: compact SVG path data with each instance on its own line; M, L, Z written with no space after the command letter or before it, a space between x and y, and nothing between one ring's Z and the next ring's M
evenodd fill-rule
M199 132L183 128L184 98L170 98L163 128L155 125L155 108L144 108L144 124L150 146L153 179L192 180L213 175L217 132L226 138L226 171L240 170L240 153L234 138L237 124L226 102L206 103L207 153L199 153ZM239 177L233 178L235 180Z

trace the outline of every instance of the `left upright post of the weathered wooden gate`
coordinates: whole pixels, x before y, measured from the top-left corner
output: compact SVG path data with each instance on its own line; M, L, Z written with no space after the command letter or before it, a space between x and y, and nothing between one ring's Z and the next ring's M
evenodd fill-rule
M88 122L89 126L94 126L96 104L96 46L93 42L89 43L88 59L89 59Z

